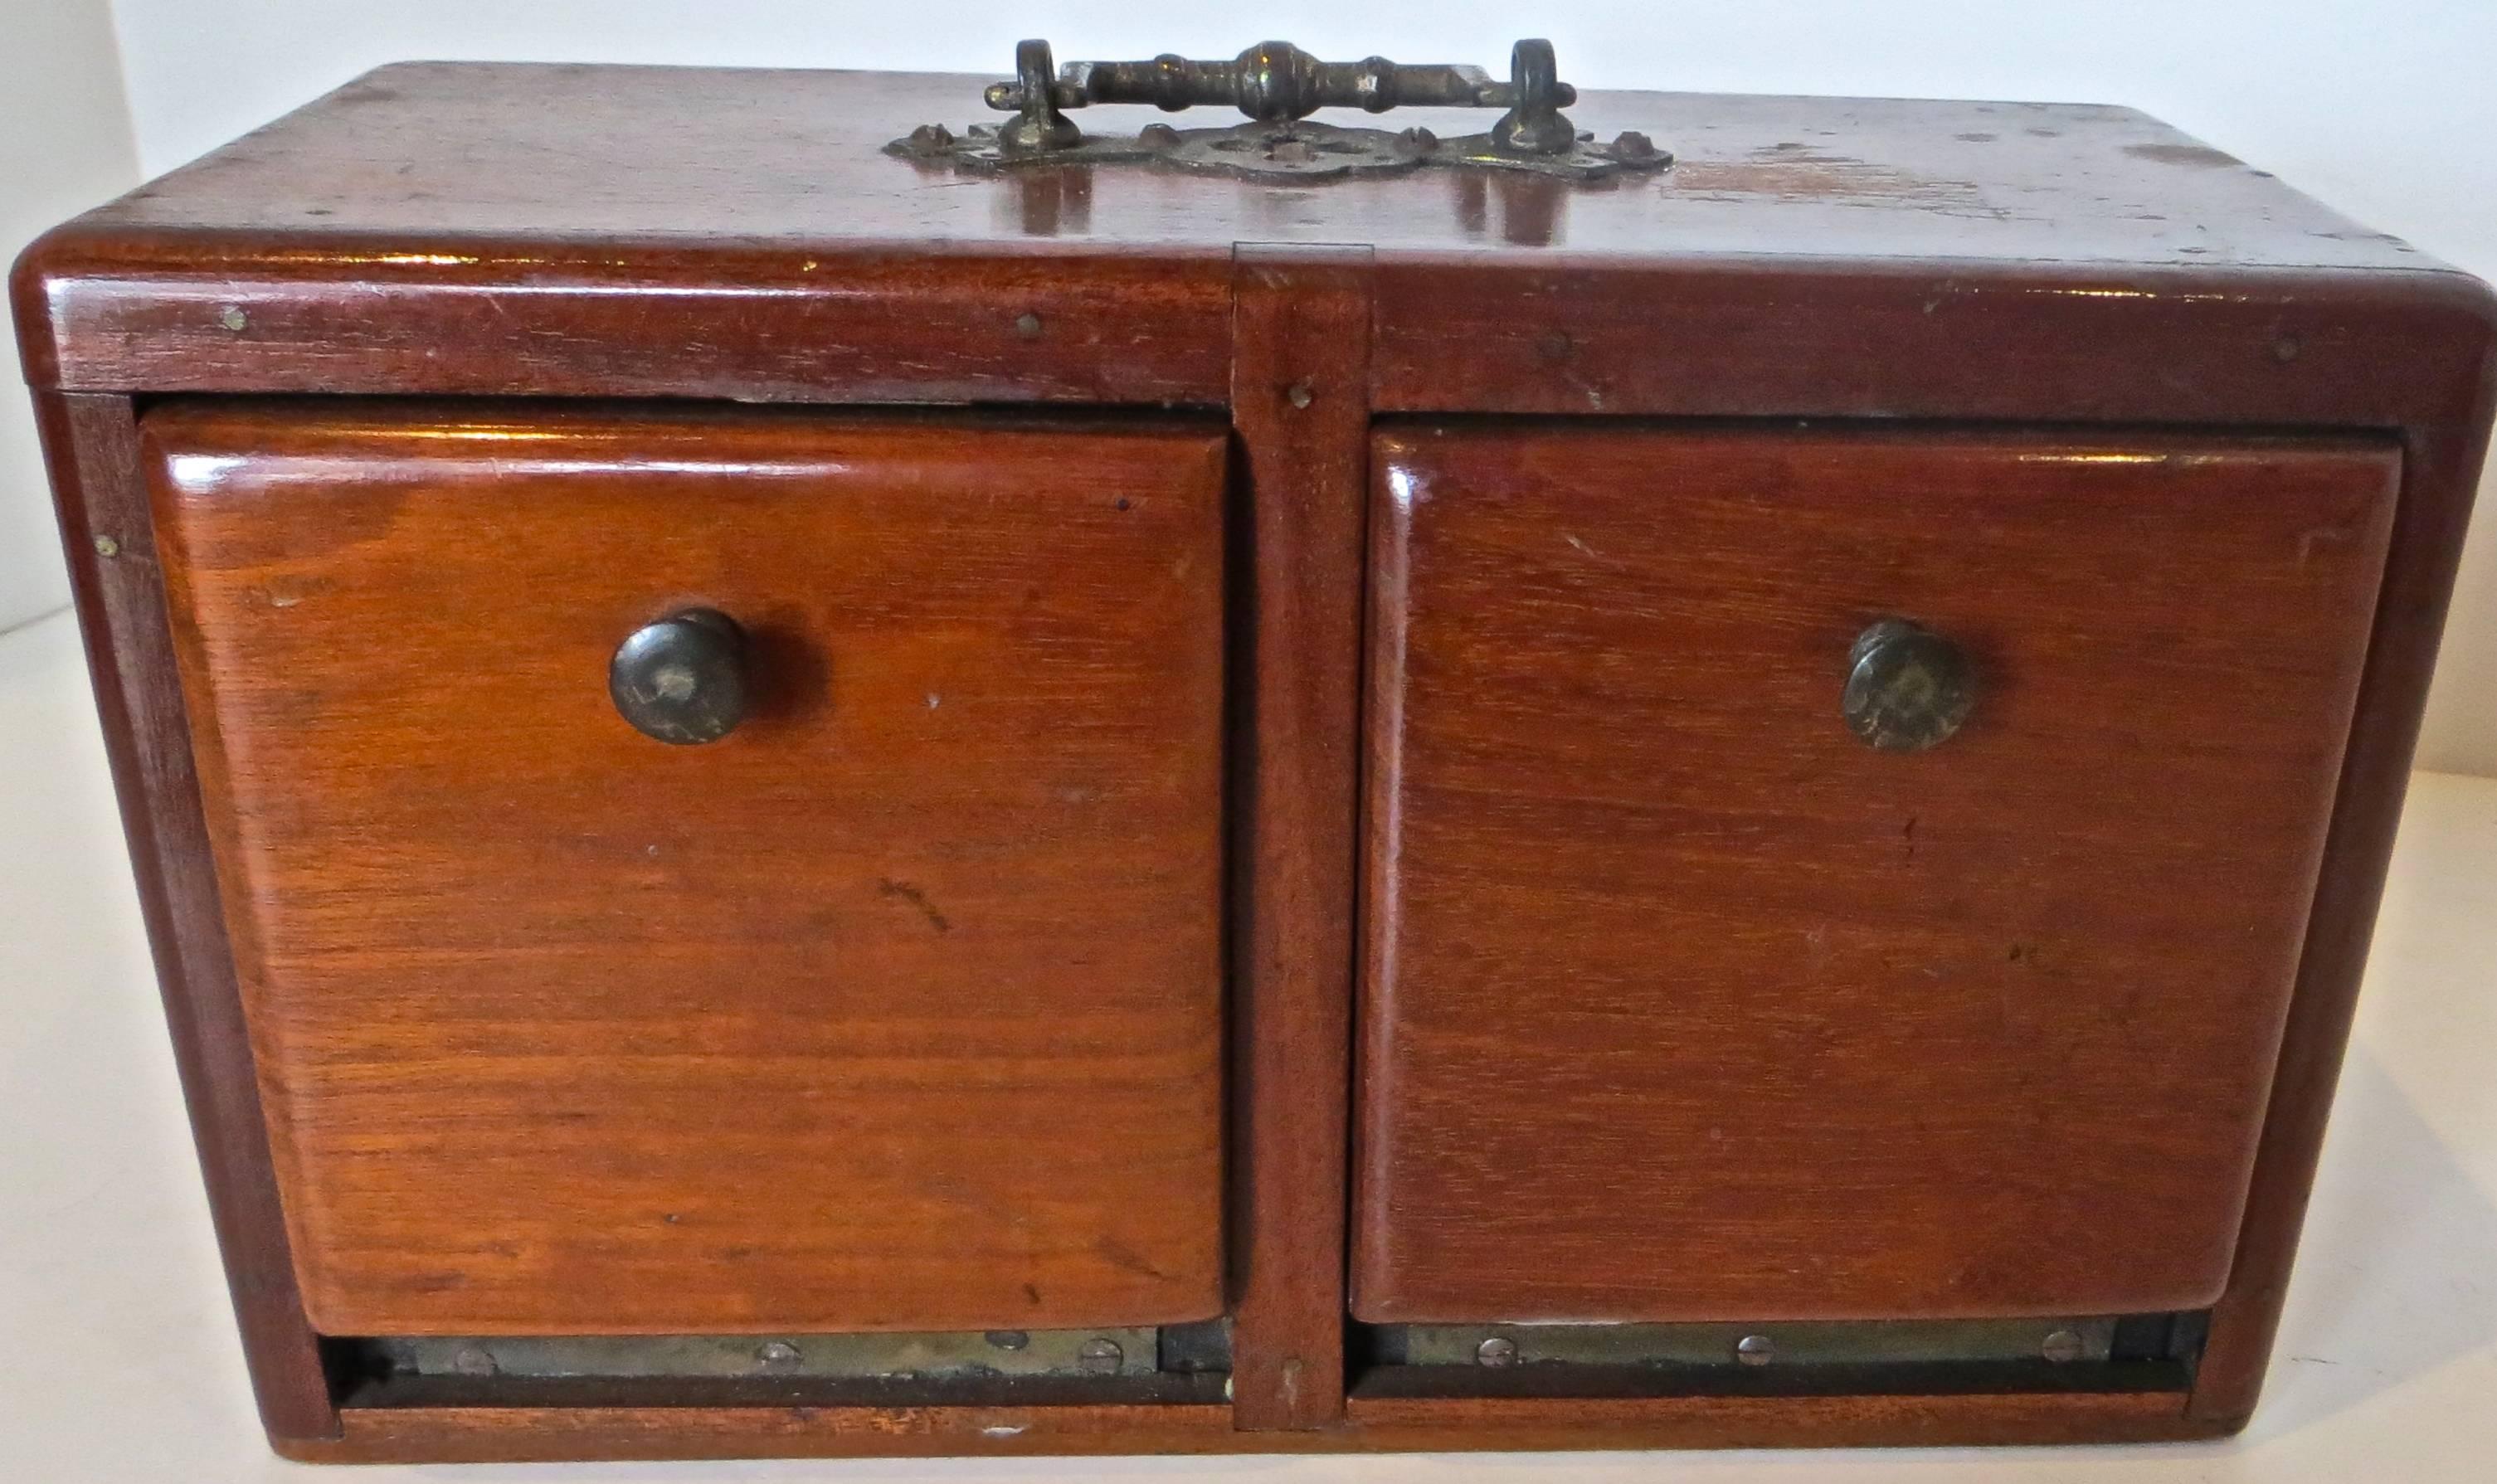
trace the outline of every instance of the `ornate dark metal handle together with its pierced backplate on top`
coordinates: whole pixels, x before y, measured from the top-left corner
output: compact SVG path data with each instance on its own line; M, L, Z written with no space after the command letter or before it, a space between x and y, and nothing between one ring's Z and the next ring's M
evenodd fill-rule
M1321 62L1291 42L1258 42L1229 62L1161 55L1151 62L1069 62L1061 72L1049 42L1026 40L1014 47L1014 82L991 82L984 97L1014 120L1001 127L971 125L961 135L921 125L884 152L961 170L1149 160L1251 180L1393 175L1421 165L1603 180L1673 162L1670 152L1641 132L1623 132L1608 145L1581 135L1561 112L1578 102L1578 90L1561 80L1548 40L1521 40L1508 52L1508 82L1493 82L1481 67L1403 65L1386 57ZM1089 137L1064 110L1094 102L1151 102L1169 112L1229 102L1248 122L1219 130L1156 122L1134 137ZM1441 140L1423 127L1388 132L1311 122L1308 115L1321 107L1508 112L1481 135Z

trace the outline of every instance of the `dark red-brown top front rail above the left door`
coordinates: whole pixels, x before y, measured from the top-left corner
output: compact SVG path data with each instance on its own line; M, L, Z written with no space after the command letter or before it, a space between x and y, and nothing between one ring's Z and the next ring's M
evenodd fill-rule
M597 240L502 237L392 242L377 255L272 237L265 250L292 267L252 282L197 250L165 257L165 242L82 232L27 257L17 300L27 362L55 357L45 327L57 325L50 335L80 347L67 362L75 382L737 402L1224 400L1219 252L1051 262L876 245L832 260L742 242L619 255ZM105 340L122 350L95 365L87 350Z

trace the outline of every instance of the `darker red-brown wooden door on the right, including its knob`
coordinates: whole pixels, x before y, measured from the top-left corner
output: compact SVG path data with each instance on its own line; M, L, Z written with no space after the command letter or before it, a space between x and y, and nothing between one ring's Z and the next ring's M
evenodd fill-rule
M1383 425L1353 1314L2195 1309L2362 440Z

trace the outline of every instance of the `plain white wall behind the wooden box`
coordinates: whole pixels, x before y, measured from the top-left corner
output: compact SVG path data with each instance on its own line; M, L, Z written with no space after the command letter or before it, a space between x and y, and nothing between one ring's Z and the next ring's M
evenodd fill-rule
M22 0L42 2L42 0ZM2127 102L2497 277L2492 0L112 0L150 172L407 57L1004 72L1286 37L1501 67L1548 35L1598 87ZM2397 367L2387 367L2397 375ZM5 607L5 605L0 605ZM2425 767L2497 774L2497 500L2465 565Z

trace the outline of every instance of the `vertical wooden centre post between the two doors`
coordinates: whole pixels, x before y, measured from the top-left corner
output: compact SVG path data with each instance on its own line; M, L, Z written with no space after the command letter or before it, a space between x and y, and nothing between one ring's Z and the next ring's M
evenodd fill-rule
M1343 1414L1368 342L1366 252L1239 250L1231 420L1251 555L1234 735L1231 1387L1244 1429Z

